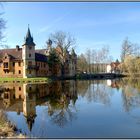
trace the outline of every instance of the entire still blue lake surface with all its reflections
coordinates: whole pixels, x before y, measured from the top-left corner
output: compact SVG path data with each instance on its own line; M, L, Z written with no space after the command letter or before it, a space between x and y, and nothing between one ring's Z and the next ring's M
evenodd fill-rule
M3 84L0 95L28 137L140 138L140 80Z

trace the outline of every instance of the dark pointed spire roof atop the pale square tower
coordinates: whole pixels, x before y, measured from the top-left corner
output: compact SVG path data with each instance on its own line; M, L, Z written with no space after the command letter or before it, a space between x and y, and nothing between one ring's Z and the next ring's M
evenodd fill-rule
M31 36L31 33L30 33L29 26L28 26L28 31L27 31L23 46L24 45L35 46L35 43L33 42L33 37Z

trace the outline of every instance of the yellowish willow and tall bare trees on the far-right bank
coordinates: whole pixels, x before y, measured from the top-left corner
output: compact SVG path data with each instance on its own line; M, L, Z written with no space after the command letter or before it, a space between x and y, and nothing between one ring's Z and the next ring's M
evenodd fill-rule
M126 38L121 49L121 73L134 76L140 74L140 46Z

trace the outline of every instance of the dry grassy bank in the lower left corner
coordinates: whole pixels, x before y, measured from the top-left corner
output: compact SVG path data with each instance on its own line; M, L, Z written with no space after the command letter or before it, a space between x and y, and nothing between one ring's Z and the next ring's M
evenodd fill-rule
M18 129L12 124L3 110L0 110L0 138L25 138L22 134L17 134Z

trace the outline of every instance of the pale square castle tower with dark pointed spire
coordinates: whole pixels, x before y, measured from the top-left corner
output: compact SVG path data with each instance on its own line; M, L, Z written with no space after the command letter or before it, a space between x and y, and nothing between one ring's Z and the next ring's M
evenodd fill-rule
M29 27L22 47L23 78L35 77L35 43L33 42Z

